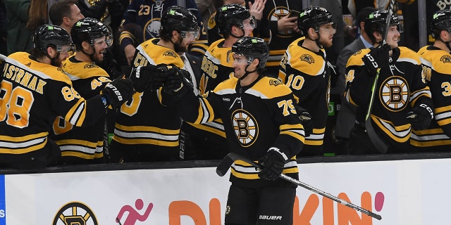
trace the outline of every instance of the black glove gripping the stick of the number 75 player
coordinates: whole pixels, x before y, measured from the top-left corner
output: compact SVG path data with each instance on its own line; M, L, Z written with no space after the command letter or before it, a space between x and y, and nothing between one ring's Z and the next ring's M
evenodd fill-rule
M287 155L280 152L278 148L271 147L266 155L259 159L259 164L263 169L259 172L261 179L275 181L283 172L283 166L288 161Z

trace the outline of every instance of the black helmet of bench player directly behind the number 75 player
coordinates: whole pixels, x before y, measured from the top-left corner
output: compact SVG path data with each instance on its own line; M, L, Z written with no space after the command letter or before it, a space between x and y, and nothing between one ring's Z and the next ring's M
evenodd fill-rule
M245 6L240 4L228 4L221 6L214 17L220 34L230 34L232 27L237 26L244 29L243 21L251 18L251 13ZM251 21L252 22L252 21Z

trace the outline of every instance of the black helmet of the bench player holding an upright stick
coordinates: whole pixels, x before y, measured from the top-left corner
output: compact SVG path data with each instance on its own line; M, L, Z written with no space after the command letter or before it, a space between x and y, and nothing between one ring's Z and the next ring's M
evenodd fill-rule
M365 32L368 34L369 38L373 43L376 39L373 37L373 32L379 32L382 35L385 34L385 20L387 20L388 10L379 10L370 13L368 17L365 19ZM402 26L400 21L397 19L397 14L393 13L390 18L390 26L396 25L397 30L401 33Z

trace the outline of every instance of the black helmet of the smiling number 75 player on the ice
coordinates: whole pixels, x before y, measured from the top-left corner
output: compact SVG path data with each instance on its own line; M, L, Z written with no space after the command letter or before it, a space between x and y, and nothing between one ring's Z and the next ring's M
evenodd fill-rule
M266 60L269 57L269 47L264 39L259 37L242 37L232 45L232 53L245 56L248 64L252 63L254 58L258 58L260 63L257 69L259 69L264 68L266 65Z

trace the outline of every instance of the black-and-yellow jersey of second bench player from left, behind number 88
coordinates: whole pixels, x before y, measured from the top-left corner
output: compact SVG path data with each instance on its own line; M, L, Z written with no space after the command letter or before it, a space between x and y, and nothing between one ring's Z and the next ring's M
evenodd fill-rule
M73 87L83 98L92 98L100 94L106 84L111 82L108 73L95 63L80 62L75 56L67 58L62 68L68 73ZM89 161L104 157L105 117L89 127L73 127L69 122L57 117L54 122L54 140L61 149L63 157Z

